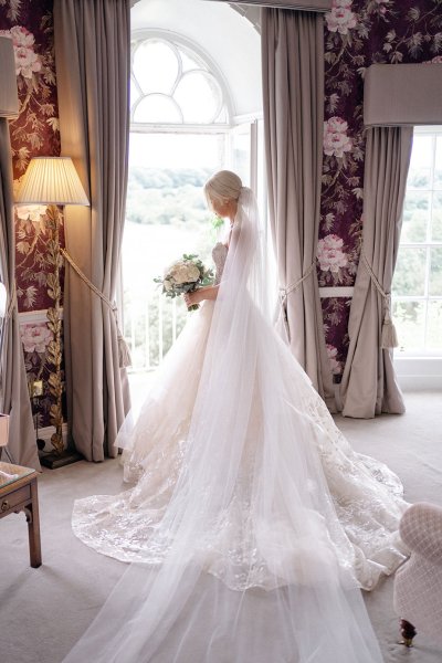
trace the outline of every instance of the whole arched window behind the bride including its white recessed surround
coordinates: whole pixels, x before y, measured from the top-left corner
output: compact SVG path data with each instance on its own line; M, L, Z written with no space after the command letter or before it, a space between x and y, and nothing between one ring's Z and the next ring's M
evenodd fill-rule
M202 186L230 168L260 190L263 128L260 36L241 14L193 0L182 14L181 0L140 0L131 22L122 291L136 386L161 362L188 315L154 278L183 253L211 262L217 236Z

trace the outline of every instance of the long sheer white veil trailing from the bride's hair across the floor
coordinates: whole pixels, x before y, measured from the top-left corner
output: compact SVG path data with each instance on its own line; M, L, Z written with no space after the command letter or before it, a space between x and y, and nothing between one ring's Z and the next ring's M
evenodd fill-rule
M66 663L382 661L308 378L261 313L260 234L243 188L157 554L128 567Z

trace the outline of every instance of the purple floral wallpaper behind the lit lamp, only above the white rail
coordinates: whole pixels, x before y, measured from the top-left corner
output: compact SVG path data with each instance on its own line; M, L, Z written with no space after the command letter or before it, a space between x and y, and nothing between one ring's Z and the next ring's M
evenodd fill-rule
M12 39L20 99L20 115L10 123L15 190L32 157L60 155L52 7L53 0L0 0L0 34ZM42 311L51 306L44 208L15 212L19 311Z

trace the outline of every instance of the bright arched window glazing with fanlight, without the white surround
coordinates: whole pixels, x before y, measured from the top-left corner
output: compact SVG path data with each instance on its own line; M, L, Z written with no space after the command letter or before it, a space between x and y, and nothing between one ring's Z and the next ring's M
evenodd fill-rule
M212 214L202 186L224 166L230 99L214 65L177 38L131 45L130 145L123 245L125 337L133 371L156 368L181 330L181 298L154 283L183 253L210 261Z

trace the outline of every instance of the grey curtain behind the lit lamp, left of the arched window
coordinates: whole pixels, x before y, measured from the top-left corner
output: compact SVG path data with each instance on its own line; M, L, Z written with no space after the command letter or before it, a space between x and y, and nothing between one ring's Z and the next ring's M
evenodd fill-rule
M55 0L62 154L73 158L91 208L66 208L66 249L115 298L128 157L129 2ZM66 266L64 303L70 435L87 460L116 455L129 409L114 311Z

